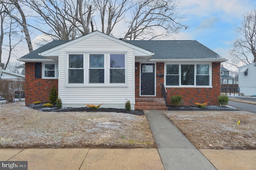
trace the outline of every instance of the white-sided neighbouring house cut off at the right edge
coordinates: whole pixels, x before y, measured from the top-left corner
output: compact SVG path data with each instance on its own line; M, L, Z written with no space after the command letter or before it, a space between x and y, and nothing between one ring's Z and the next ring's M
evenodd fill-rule
M256 62L238 67L240 93L244 96L256 94Z

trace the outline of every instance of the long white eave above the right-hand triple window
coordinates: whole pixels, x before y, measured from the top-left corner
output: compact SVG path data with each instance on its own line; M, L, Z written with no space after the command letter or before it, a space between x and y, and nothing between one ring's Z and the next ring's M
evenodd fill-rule
M226 59L150 59L152 62L225 62Z

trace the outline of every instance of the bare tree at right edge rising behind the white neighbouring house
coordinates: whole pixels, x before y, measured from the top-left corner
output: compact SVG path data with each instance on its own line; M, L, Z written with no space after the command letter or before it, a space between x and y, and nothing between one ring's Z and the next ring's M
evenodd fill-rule
M236 30L238 37L232 45L232 65L256 62L256 9L244 16L242 25Z

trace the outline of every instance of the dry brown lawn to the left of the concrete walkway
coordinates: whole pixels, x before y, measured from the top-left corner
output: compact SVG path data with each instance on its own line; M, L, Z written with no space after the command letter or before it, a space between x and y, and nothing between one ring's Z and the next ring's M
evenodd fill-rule
M145 116L114 112L40 112L0 104L0 148L154 148Z

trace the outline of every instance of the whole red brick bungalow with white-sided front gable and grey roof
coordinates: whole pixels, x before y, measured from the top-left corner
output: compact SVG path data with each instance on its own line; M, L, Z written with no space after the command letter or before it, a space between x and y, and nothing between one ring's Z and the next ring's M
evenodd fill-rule
M218 105L226 61L194 40L123 41L98 31L54 40L18 60L25 62L26 105L48 102L54 84L63 107L124 108L130 100L132 110L165 109L165 91L167 105L178 94L183 105Z

